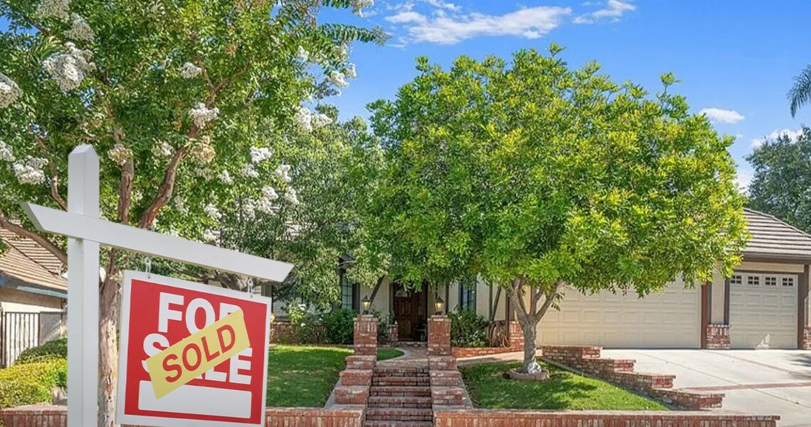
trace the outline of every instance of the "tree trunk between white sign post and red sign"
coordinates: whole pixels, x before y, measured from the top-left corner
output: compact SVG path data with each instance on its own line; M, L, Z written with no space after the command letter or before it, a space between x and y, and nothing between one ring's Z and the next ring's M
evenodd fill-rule
M118 378L118 288L114 278L101 287L99 299L99 426L115 425L115 387Z

